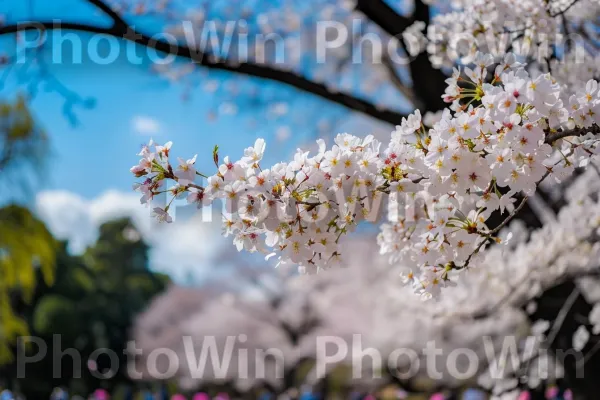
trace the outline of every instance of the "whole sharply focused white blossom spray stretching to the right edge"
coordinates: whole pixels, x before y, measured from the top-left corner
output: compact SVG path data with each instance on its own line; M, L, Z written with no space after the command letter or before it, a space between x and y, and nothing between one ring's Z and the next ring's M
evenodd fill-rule
M339 262L340 240L362 220L376 221L385 199L400 212L382 226L381 252L408 267L406 280L430 298L476 265L485 246L502 242L499 228L540 181L561 181L597 152L596 81L566 98L550 75L530 76L513 55L490 75L494 65L492 56L478 54L474 67L456 69L443 95L452 106L433 128L417 110L385 148L372 136L340 134L329 149L319 140L316 154L299 149L292 161L265 168L265 142L258 139L237 161L220 162L215 149L217 171L207 176L196 171L196 157L173 167L170 143L149 145L132 168L145 178L135 188L142 203L167 180L175 182L167 189L173 198L187 196L199 207L218 199L227 210L224 234L238 250L309 271ZM168 211L155 208L164 221ZM486 222L494 212L506 221L491 229Z

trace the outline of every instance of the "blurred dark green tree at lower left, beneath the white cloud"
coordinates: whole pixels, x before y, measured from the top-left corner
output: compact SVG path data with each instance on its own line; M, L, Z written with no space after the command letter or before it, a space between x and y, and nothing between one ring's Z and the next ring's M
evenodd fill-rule
M98 387L112 391L130 383L124 349L131 321L169 281L148 270L147 250L126 219L104 224L83 256L70 255L62 244L56 284L40 282L34 305L27 308L32 333L48 345L48 356L27 365L26 378L18 380L27 398L48 398L56 386L87 395ZM98 349L110 350L118 363L108 352L96 357ZM13 365L5 373L14 378L15 370Z

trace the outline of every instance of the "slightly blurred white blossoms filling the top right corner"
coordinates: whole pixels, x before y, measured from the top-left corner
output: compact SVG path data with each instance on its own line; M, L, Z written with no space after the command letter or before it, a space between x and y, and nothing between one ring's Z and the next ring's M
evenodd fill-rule
M420 21L407 30L411 54L426 49L432 64L452 68L473 61L477 52L513 51L549 68L563 84L574 85L600 73L600 58L587 43L600 4L593 0L458 0L429 1L444 9L427 26ZM460 21L460 22L458 22ZM587 24L587 25L586 25ZM405 38L406 40L406 38ZM416 49L418 44L420 50ZM560 48L560 51L556 49Z

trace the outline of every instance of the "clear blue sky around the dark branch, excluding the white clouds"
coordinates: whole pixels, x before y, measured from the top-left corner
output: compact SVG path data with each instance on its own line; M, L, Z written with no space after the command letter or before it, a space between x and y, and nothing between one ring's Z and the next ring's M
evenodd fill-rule
M108 23L86 2L77 0L0 0L0 14L5 15L5 23L29 18ZM146 17L135 22L150 33L159 32L162 27L156 18ZM77 35L81 46L73 46L68 35ZM61 42L61 37L66 39ZM152 70L147 49L134 49L126 42L116 48L119 52L116 61L97 65L90 60L89 49L98 48L98 53L106 55L106 41L95 46L90 37L82 33L50 33L41 53L48 71L45 78L39 79L31 73L37 70L35 65L17 64L6 74L5 85L0 90L0 98L11 99L16 93L31 92L31 88L37 86L31 108L49 133L53 148L44 189L69 190L86 198L98 196L107 189L129 190L132 178L127 171L137 161L137 149L150 137L155 141L172 140L174 153L182 157L200 153L199 165L209 171L215 144L220 146L223 155L237 156L257 137L265 137L270 145L269 154L281 158L282 154L291 153L307 136L314 137L314 125L311 126L314 120L302 119L312 119L309 113L318 110L321 117L345 114L335 105L284 85L256 78L240 79L223 72L198 69L194 73L198 76L191 83L171 83ZM14 37L2 38L0 44L8 49L7 53L14 53ZM134 65L128 61L132 58L128 57L129 52L143 56L142 63ZM55 62L57 59L61 62ZM180 64L176 63L175 69L177 65ZM219 89L213 93L203 90L207 82L218 85ZM231 96L221 89L228 83L235 83L244 92L254 90L261 94L257 99L237 99L240 102L237 114L225 113L213 120L209 118L211 114L223 114L219 112L219 104L231 100ZM65 113L66 100L61 91L81 98L91 107L75 104L68 109L68 114ZM265 100L293 106L294 113L289 118L262 118L268 106ZM259 117L254 118L256 121L251 125L249 120L253 113ZM308 122L307 126L302 122ZM144 127L146 129L139 129ZM282 127L289 127L294 135L284 142L273 140ZM269 161L276 160L279 159L270 158Z

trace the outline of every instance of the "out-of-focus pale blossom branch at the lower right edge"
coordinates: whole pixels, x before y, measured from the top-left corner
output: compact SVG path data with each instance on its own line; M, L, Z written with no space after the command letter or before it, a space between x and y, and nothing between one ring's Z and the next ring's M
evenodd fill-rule
M479 304L469 307L480 307L483 303L484 314L487 316L502 315L511 308L534 314L538 308L538 299L544 297L546 290L555 287L557 283L573 280L577 293L582 293L593 308L589 316L578 321L582 325L573 334L572 347L575 351L581 351L586 358L593 354L595 343L591 334L597 335L600 332L600 180L596 168L597 165L587 169L568 185L564 197L566 204L542 228L529 232L521 221L514 221L508 228L515 233L509 246L494 247L486 251L484 262L489 267L473 271L475 273L461 281L462 285L474 293L467 300L458 297L451 299L450 302L454 304L448 304L449 301L445 298L445 306L448 309L458 309L458 301L466 304L469 300L481 299L481 302L471 301ZM461 311L464 311L464 307ZM535 347L519 350L522 354L516 367L526 371L529 376L525 376L527 380L523 379L523 382L532 388L540 380L548 379L549 370L540 369L536 363L530 364L529 361L549 356L548 343L555 340L555 333L552 331L561 323L560 319L537 320L530 332L538 337ZM543 362L549 361L562 362L560 359ZM492 389L493 393L516 390L518 369L513 368L504 370L493 380L487 374L483 375L479 378L479 383ZM503 379L498 379L500 377ZM512 398L508 394L504 396L498 394L492 398Z

